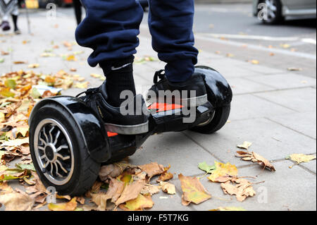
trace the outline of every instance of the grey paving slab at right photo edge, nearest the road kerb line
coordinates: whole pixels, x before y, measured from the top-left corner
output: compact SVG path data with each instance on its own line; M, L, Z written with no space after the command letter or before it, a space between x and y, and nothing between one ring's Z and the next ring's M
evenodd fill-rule
M262 75L259 77L249 77L249 80L253 80L257 83L265 84L276 89L287 89L296 87L310 87L316 85L315 78L308 78L304 75L285 73L276 75Z

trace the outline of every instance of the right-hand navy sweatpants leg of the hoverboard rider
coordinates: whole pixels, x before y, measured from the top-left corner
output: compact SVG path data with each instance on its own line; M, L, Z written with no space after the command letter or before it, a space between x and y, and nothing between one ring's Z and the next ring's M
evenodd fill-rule
M183 82L194 73L198 51L192 32L194 0L149 0L149 28L166 78Z

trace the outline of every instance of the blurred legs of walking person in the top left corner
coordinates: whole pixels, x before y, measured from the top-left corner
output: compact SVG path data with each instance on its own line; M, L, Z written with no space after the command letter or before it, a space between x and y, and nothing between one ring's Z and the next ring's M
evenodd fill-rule
M3 31L11 30L10 23L8 22L8 18L11 14L13 25L14 25L14 32L16 35L20 35L21 33L18 28L18 15L19 15L18 4L19 4L18 0L0 0L0 19L1 19L0 28Z

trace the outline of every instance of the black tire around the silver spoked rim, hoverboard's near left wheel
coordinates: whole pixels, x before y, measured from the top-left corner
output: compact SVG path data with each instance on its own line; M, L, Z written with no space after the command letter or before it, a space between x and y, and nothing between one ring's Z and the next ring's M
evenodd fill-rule
M54 119L63 126L68 133L73 147L73 174L70 176L69 181L61 186L51 183L51 181L46 178L40 169L35 154L35 138L38 138L35 137L35 130L37 125L46 119ZM85 137L82 137L81 133L77 130L79 130L79 128L70 113L54 103L49 103L41 107L35 112L32 119L30 126L30 152L32 161L44 186L46 186L46 188L50 186L56 188L58 195L80 196L85 194L89 188L92 187L94 181L97 180L99 174L100 164L89 156L87 148L82 141Z

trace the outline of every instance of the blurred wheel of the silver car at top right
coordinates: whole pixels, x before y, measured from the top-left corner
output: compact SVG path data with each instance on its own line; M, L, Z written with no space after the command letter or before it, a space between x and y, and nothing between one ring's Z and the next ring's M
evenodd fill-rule
M263 23L271 25L280 23L283 19L280 0L263 0L262 3L266 4L268 10L268 18L262 20Z

